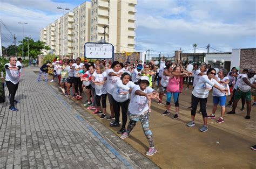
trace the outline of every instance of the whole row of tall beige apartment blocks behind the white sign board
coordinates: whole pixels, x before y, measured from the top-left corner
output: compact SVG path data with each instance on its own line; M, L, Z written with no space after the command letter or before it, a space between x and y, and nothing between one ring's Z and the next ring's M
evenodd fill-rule
M62 16L50 24L53 29L49 30L47 26L42 29L41 40L45 41L55 54L73 58L84 56L86 42L105 41L114 46L114 53L132 52L136 43L136 4L137 0L84 2L73 9L73 12L64 15L64 26ZM53 41L48 40L49 32L53 34L50 37Z

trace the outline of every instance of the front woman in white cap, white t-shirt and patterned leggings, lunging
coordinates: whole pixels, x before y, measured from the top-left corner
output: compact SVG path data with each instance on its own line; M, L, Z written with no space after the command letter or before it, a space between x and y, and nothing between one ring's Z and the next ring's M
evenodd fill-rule
M149 129L149 105L147 101L150 101L152 98L157 98L159 100L159 94L149 87L150 81L149 77L142 76L138 80L138 84L132 89L131 93L131 102L129 104L129 119L130 122L127 126L127 130L120 137L121 139L125 139L130 135L130 132L136 125L137 121L142 123L142 128L144 134L149 142L150 148L149 151L146 152L147 156L153 156L154 153L157 152L154 147L154 141L152 132Z

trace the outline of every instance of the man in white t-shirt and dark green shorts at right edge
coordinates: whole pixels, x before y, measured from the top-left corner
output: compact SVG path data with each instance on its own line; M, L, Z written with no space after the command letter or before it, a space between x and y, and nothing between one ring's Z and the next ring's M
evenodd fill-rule
M234 102L232 105L232 111L227 112L227 114L235 114L235 109L237 108L237 103L240 100L242 96L245 97L246 105L247 105L247 115L246 119L250 119L250 112L251 112L251 89L256 88L256 85L254 84L254 75L255 71L253 69L249 69L249 72L247 74L243 74L241 77L241 81L238 85L237 91L235 91L234 95Z

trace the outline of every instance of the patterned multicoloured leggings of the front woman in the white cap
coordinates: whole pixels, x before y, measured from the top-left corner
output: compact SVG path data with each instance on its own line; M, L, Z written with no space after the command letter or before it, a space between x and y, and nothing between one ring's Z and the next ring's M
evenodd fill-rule
M136 125L136 122L140 121L142 123L142 129L147 138L147 141L149 142L150 147L154 147L152 131L149 129L149 111L147 111L147 113L143 115L132 115L130 111L128 113L130 122L127 126L126 132L130 133Z

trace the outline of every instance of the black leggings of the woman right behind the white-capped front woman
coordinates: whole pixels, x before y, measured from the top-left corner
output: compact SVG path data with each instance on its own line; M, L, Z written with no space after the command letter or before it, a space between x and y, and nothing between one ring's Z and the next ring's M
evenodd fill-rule
M126 100L125 102L117 102L113 99L113 108L114 108L114 118L115 123L119 123L119 117L120 117L120 107L122 108L122 128L125 128L126 122L127 122L127 112L128 112L128 105L129 105L130 99Z

